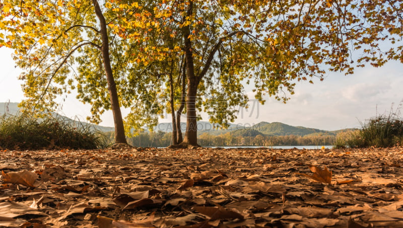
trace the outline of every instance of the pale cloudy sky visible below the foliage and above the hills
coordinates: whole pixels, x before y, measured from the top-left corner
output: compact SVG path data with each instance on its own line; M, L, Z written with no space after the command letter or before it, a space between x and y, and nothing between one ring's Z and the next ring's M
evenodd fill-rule
M0 48L0 102L21 102L24 99L18 75L20 69L15 68L11 57L11 49ZM320 82L313 80L297 83L295 94L283 104L274 98L266 97L264 105L257 101L249 102L249 109L240 109L234 123L252 126L261 121L282 122L293 126L304 126L322 130L339 130L360 127L363 122L379 114L395 112L399 104L403 105L403 64L390 61L384 66L374 68L366 66L357 68L352 75L343 72L331 72ZM254 98L251 91L246 91ZM74 93L65 101L60 99L62 109L58 113L69 118L78 117L85 120L90 115L90 106L84 105L75 98ZM123 109L123 116L128 110ZM160 122L170 122L170 114ZM201 114L203 121L208 121ZM113 126L112 112L101 116L100 125ZM182 118L182 121L185 119Z

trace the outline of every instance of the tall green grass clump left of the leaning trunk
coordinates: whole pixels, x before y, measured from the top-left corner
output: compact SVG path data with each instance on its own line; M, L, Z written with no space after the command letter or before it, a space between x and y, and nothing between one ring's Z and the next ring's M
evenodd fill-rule
M3 149L96 149L107 144L106 137L90 125L54 117L34 119L22 113L0 117Z

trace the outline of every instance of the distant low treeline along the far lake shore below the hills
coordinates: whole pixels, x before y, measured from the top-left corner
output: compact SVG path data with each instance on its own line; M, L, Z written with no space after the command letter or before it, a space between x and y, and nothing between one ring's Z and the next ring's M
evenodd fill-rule
M107 133L113 141L113 132ZM127 142L140 147L166 147L171 144L171 132L143 132L128 138ZM277 145L333 145L335 136L329 134L310 134L305 136L281 135L234 136L230 132L221 135L203 133L198 136L201 146L277 146Z

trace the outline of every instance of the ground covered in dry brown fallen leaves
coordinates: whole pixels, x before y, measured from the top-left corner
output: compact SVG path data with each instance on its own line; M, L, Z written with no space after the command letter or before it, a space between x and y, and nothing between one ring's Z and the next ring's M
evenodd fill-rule
M0 152L0 226L403 227L403 148Z

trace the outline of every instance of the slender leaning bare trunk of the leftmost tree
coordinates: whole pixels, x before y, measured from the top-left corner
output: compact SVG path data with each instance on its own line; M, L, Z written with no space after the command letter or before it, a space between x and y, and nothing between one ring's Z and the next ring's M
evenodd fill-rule
M108 91L110 97L110 105L113 113L113 122L115 124L115 143L127 144L126 136L124 135L124 126L122 114L120 112L119 99L116 92L116 84L115 80L113 79L112 68L110 65L109 38L106 29L106 22L97 0L92 0L92 4L94 5L95 14L97 15L97 18L99 20L100 33L102 37L102 60L104 64L106 80L108 82Z

